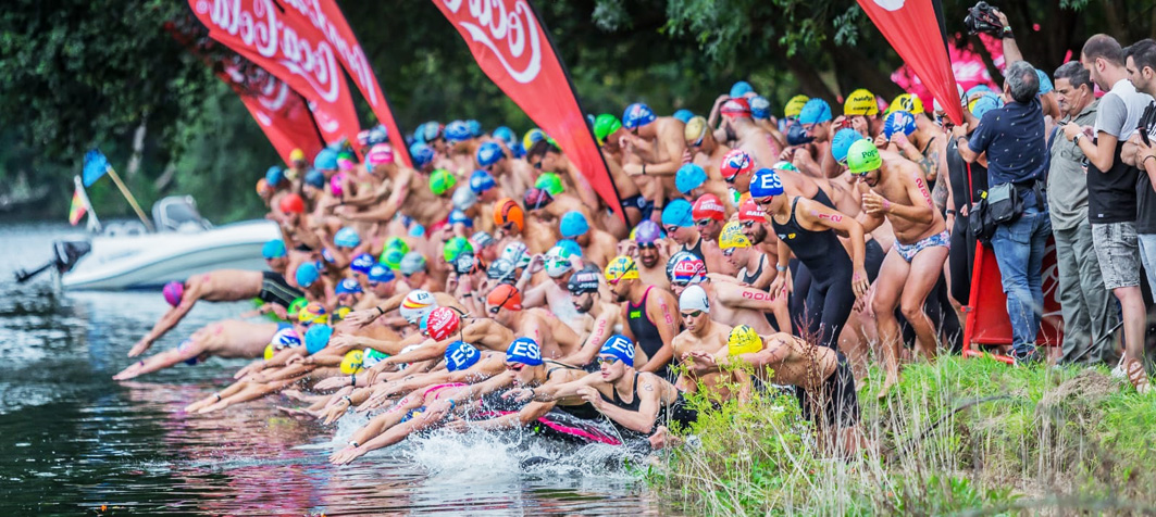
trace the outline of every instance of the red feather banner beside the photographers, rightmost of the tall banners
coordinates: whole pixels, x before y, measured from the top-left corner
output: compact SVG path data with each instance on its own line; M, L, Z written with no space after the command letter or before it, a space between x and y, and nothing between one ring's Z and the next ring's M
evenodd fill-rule
M859 0L867 16L895 47L899 58L939 99L953 122L963 123L951 59L936 10L939 0Z

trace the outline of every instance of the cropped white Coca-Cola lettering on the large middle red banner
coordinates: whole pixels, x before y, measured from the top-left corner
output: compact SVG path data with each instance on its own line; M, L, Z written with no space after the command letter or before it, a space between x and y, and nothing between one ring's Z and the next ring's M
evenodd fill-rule
M465 0L443 0L446 9L458 14ZM524 0L513 2L506 10L506 0L469 0L468 15L459 17L469 37L494 52L494 57L506 69L510 77L519 83L528 83L542 69L542 44L539 37L538 17ZM476 23L475 23L476 22ZM498 45L502 43L503 45ZM526 55L526 51L529 54Z

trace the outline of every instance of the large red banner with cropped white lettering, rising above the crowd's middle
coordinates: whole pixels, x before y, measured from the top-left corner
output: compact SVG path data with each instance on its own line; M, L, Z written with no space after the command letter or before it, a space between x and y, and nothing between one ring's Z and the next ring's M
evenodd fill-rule
M433 0L482 72L550 135L594 192L625 220L570 76L527 0Z

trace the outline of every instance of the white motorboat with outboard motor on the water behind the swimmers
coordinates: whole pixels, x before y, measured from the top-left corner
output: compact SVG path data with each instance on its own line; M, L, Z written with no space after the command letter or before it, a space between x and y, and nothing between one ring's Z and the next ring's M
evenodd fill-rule
M214 227L190 196L153 205L156 232L140 223L110 225L87 240L55 243L57 270L67 289L124 290L164 285L216 269L266 269L261 246L281 237L271 220ZM86 249L89 248L89 249Z

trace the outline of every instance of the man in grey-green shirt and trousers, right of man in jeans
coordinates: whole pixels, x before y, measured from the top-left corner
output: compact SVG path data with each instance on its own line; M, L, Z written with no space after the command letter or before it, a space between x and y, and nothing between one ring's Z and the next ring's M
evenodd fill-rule
M1094 88L1088 69L1077 61L1055 70L1055 97L1064 114L1061 123L1096 123L1099 100L1096 100ZM1064 353L1059 362L1094 365L1111 358L1116 307L1104 289L1091 242L1084 155L1064 136L1053 135L1048 142L1052 162L1047 174L1047 204L1064 312Z

